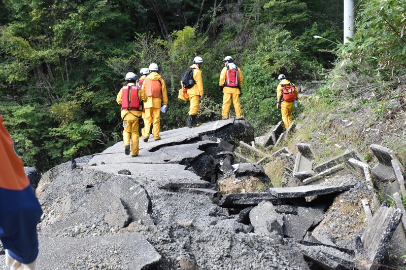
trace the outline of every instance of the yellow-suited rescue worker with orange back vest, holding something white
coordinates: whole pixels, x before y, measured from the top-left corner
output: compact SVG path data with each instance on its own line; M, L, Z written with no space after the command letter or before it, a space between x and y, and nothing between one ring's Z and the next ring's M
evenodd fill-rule
M149 139L149 131L152 124L152 134L155 140L160 140L160 117L161 117L161 106L168 104L168 96L166 94L165 81L162 79L161 75L158 74L158 65L151 63L148 67L150 73L145 78L142 89L148 96L148 101L145 105L145 137L144 141L147 142Z

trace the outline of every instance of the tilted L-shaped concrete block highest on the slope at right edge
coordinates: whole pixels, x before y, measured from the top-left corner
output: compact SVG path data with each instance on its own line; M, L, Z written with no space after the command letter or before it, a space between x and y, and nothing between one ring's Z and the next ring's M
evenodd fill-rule
M400 171L403 173L403 166L397 161L393 150L382 147L377 144L371 144L370 149L374 153L375 157L378 159L378 165L372 168L374 177L377 180L382 181L395 181L395 174L393 172L392 160L395 160L398 163Z

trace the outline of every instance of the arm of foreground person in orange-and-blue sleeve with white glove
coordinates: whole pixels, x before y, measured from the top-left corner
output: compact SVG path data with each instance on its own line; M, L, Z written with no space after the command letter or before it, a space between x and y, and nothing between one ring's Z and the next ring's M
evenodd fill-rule
M38 257L41 205L0 115L0 240L10 269L33 270Z

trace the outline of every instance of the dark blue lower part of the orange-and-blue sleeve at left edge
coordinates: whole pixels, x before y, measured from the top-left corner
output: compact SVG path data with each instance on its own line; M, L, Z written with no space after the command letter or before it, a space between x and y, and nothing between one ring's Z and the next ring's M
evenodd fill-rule
M0 240L13 259L21 263L36 260L41 215L41 205L31 185L22 190L0 188Z

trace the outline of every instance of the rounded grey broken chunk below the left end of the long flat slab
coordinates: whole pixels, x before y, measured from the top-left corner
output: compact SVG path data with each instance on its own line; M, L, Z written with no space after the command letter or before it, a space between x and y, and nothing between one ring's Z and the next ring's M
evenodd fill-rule
M275 229L279 232L281 228L278 228L275 221L278 222L279 227L283 225L283 217L275 211L274 206L269 202L261 202L250 211L249 216L256 234L269 234L272 232L269 229ZM271 224L270 227L268 223Z

